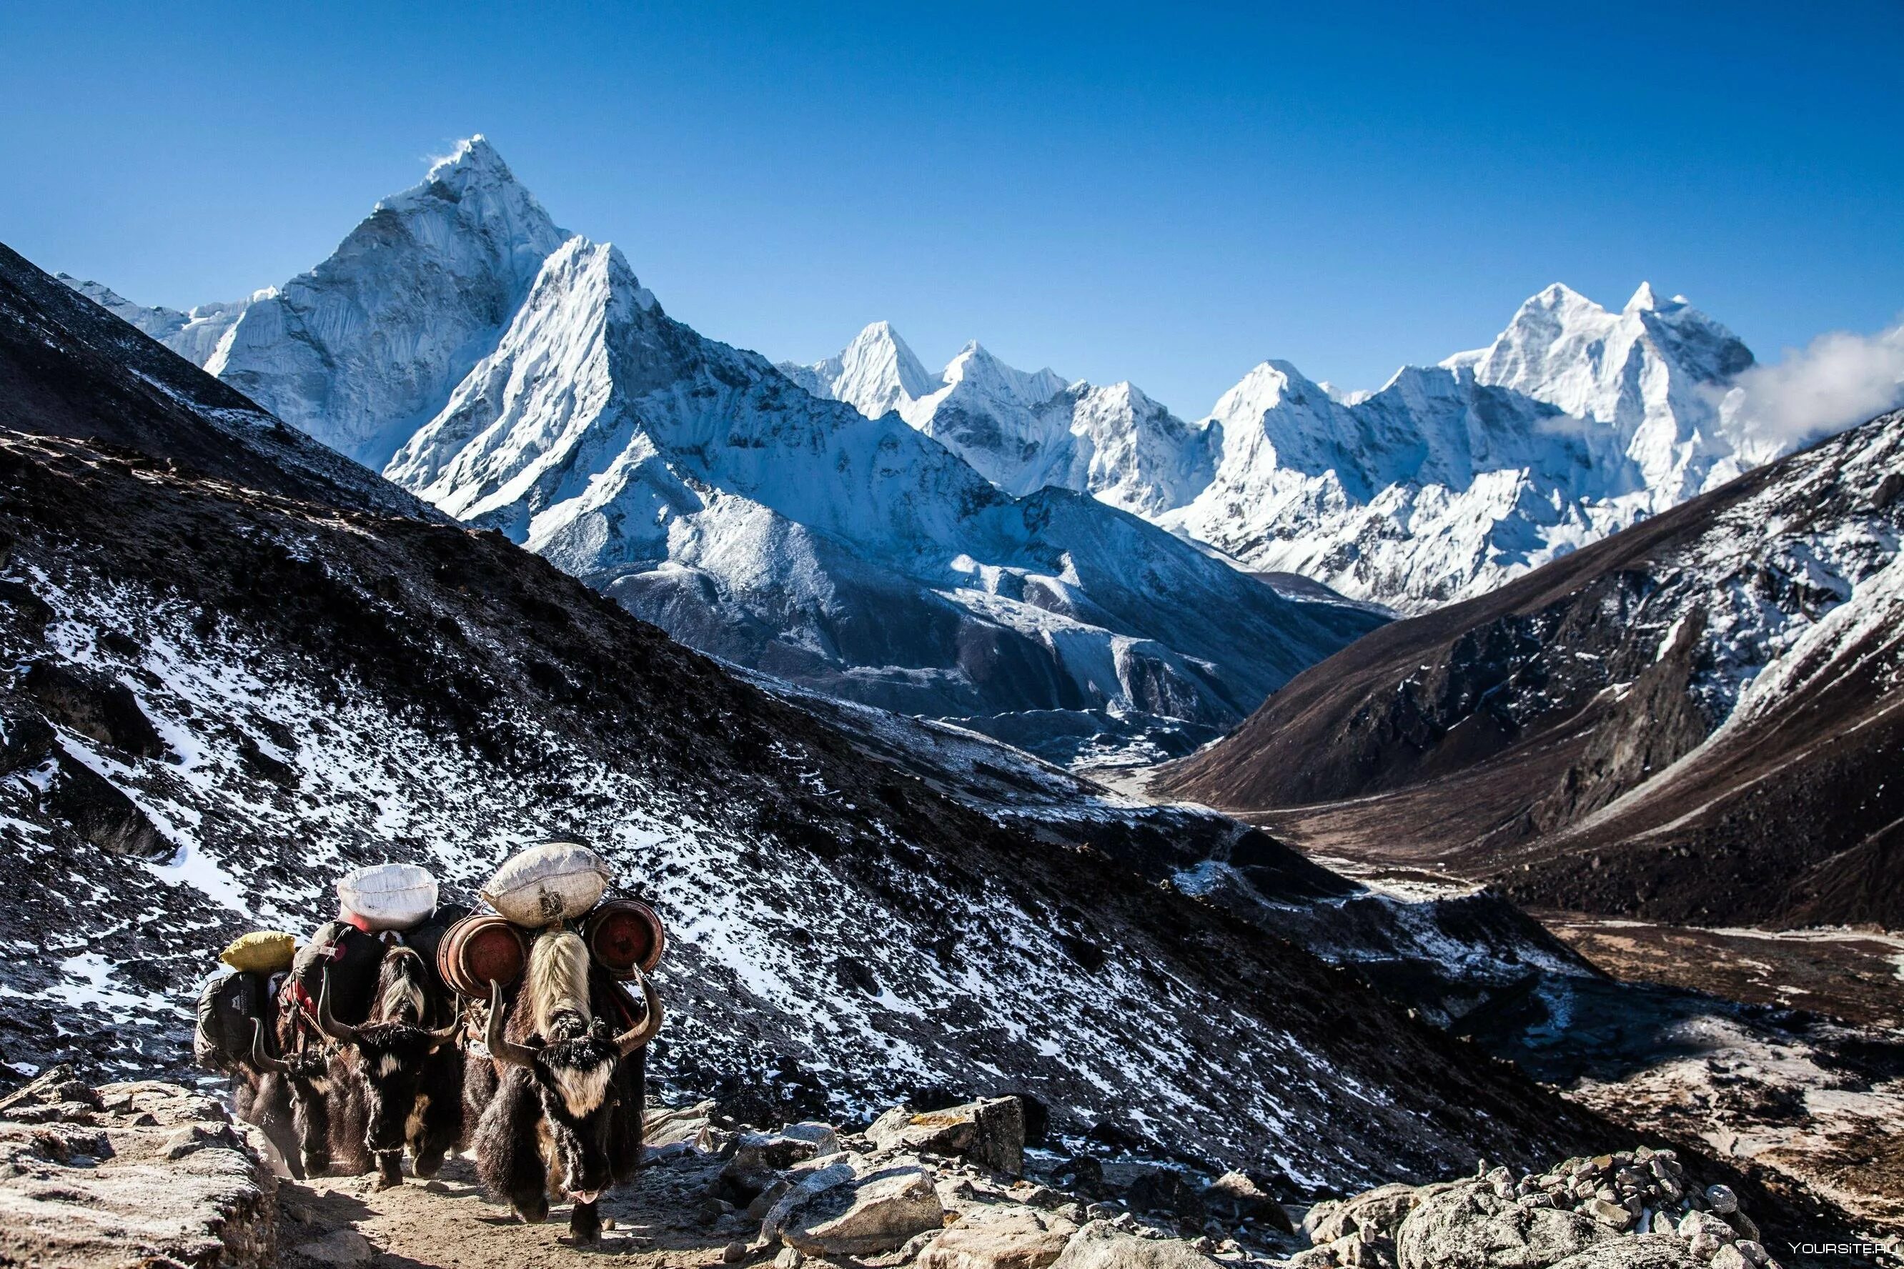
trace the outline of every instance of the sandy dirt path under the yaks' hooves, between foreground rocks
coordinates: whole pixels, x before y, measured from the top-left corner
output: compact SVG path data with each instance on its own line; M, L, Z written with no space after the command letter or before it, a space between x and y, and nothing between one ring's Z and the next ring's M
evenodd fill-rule
M432 1181L406 1178L375 1189L373 1176L284 1181L278 1189L280 1263L286 1269L554 1269L600 1256L649 1269L720 1265L737 1237L703 1218L720 1162L704 1155L664 1159L602 1199L613 1227L598 1248L569 1242L567 1206L546 1223L522 1225L476 1183L468 1159L451 1159ZM352 1237L356 1235L356 1237ZM358 1240L362 1239L362 1242Z

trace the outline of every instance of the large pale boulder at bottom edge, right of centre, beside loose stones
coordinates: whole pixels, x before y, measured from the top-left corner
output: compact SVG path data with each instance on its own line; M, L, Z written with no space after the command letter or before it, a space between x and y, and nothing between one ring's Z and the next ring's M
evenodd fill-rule
M1578 1212L1523 1208L1476 1180L1428 1195L1403 1218L1396 1261L1401 1269L1546 1269L1613 1237Z

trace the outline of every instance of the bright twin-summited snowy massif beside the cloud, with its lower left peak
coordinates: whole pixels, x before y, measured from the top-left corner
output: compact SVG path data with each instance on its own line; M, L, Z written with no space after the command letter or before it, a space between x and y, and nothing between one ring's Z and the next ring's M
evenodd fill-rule
M1618 312L1548 285L1489 346L1373 394L1264 361L1211 413L1215 481L1163 523L1405 611L1464 599L1775 457L1717 413L1750 363L1651 283Z

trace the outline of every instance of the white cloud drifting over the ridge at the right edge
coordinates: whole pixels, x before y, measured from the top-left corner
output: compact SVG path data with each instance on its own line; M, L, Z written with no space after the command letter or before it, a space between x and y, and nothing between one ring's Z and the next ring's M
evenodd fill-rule
M1754 365L1723 390L1719 417L1767 449L1843 432L1904 405L1904 323L1875 335L1834 331Z

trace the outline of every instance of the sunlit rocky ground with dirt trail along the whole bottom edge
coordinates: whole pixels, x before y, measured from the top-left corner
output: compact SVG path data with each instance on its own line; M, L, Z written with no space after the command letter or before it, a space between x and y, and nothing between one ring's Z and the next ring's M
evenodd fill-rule
M864 1132L754 1130L712 1102L649 1113L647 1162L611 1191L602 1242L565 1212L518 1223L468 1159L379 1187L280 1180L215 1098L55 1069L0 1103L0 1263L61 1269L1780 1269L1822 1263L1763 1229L1698 1157L1636 1145L1540 1172L1283 1206L1243 1172L1026 1147L1030 1103L895 1107ZM1830 1231L1801 1237L1851 1237ZM1864 1244L1860 1244L1864 1246ZM1870 1244L1870 1256L1885 1248Z

